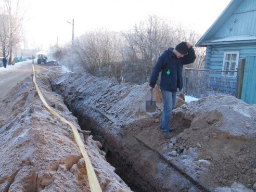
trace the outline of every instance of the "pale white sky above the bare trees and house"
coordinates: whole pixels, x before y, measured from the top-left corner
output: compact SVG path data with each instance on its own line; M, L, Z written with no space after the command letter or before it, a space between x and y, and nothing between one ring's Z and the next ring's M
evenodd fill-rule
M47 49L86 31L128 31L149 15L181 22L203 34L232 0L25 0L24 29L30 46ZM43 47L43 48L42 48Z

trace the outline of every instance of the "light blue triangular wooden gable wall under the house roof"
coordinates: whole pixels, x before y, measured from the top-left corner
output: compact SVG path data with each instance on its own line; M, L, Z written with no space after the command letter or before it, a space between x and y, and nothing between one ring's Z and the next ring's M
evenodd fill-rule
M256 34L256 1L244 1L213 38Z

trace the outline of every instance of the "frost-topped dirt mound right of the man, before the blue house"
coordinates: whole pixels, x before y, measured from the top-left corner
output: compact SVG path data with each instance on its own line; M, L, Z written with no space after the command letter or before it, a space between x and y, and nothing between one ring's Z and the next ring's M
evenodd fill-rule
M209 186L221 188L242 184L256 189L255 112L255 105L221 95L175 109L174 119L191 122L188 129L176 135L180 147L197 151L194 161L187 162L183 157L175 164L190 172L192 177L198 176L193 170L207 168L206 176L199 181ZM180 123L173 121L172 125ZM240 191L246 191L246 187Z

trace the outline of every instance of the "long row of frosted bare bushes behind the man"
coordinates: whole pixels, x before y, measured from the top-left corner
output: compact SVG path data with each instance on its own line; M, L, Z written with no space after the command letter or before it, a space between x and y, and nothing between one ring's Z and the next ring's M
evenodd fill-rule
M182 41L195 45L200 37L193 29L152 15L130 31L96 29L75 37L73 43L55 45L54 57L73 72L143 84L165 49ZM189 67L203 68L206 50L194 48L197 59Z

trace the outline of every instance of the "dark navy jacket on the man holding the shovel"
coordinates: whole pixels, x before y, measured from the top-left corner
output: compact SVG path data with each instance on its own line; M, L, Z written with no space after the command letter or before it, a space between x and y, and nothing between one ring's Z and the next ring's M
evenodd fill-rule
M173 53L172 47L165 50L158 58L158 61L153 68L149 86L155 87L158 75L161 72L160 89L170 92L177 92L177 88L181 91L183 87L182 69L183 65L193 63L196 59L195 50L193 47L188 49L188 54L183 58L178 59ZM169 72L170 74L168 74Z

